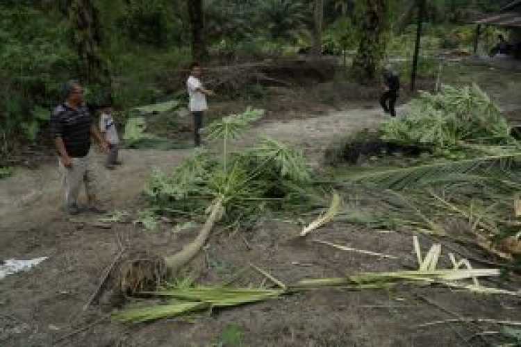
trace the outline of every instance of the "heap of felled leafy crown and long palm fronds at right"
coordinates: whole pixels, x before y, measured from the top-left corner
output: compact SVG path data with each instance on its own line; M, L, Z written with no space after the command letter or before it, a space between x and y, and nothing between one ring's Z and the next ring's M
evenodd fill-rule
M345 146L355 148L360 138ZM351 208L340 218L444 235L505 259L521 253L521 149L477 85L422 94L408 114L383 123L372 138L379 152L363 154L377 158L336 172L337 185L350 192ZM421 155L411 162L406 151L386 152L400 146Z

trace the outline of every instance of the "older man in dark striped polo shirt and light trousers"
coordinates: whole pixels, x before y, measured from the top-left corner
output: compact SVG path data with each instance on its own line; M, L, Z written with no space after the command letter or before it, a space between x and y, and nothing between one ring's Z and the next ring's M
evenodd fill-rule
M78 195L82 183L88 197L90 212L103 212L97 206L96 177L90 164L90 138L94 137L104 152L108 144L94 125L83 99L83 88L76 81L65 85L65 103L58 105L51 115L51 135L63 170L65 207L69 214L78 214Z

